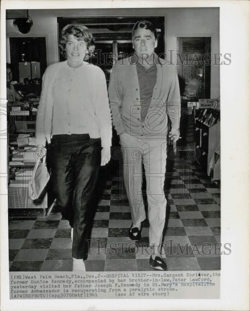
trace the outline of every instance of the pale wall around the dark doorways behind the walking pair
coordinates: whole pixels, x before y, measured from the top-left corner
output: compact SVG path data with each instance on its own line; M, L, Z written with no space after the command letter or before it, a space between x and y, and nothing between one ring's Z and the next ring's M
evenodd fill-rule
M219 53L219 9L218 8L150 8L150 9L93 9L71 10L29 10L33 26L28 34L20 34L13 27L13 20L7 20L8 37L46 36L47 63L58 61L57 16L165 16L165 51L174 50L175 61L176 36L211 36L212 53ZM7 61L10 61L7 40ZM219 66L211 67L211 98L220 94Z

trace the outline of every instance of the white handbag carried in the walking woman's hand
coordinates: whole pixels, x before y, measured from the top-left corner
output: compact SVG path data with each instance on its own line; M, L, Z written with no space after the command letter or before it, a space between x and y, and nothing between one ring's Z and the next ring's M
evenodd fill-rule
M36 200L40 197L43 189L46 187L50 179L50 175L47 170L45 161L46 156L43 157L41 163L40 160L36 162L32 177L29 180L28 196L32 200Z

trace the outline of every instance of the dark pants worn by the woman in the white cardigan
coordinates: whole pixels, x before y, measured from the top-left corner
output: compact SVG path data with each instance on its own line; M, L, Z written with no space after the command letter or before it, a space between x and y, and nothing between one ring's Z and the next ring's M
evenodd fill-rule
M53 191L62 216L74 229L72 257L86 259L101 140L88 134L54 135L49 148Z

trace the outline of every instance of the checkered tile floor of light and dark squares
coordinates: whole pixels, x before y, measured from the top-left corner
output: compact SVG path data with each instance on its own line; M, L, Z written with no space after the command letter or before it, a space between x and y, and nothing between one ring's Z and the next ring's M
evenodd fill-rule
M120 197L121 180L117 170L112 181L106 182L95 214L86 271L152 270L148 221L143 223L139 242L127 236L132 222L128 201ZM219 270L220 189L195 160L187 163L184 158L175 162L166 184L163 258L168 270ZM72 271L71 246L69 223L56 207L47 217L9 218L10 271Z

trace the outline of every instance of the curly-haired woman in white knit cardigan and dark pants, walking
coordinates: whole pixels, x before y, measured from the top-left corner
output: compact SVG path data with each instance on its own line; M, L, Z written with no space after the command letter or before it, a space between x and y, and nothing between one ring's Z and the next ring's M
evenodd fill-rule
M110 160L111 114L104 72L86 62L95 49L90 30L65 26L59 47L67 59L43 75L35 137L38 148L47 141L53 190L72 228L73 271L84 271L98 171Z

